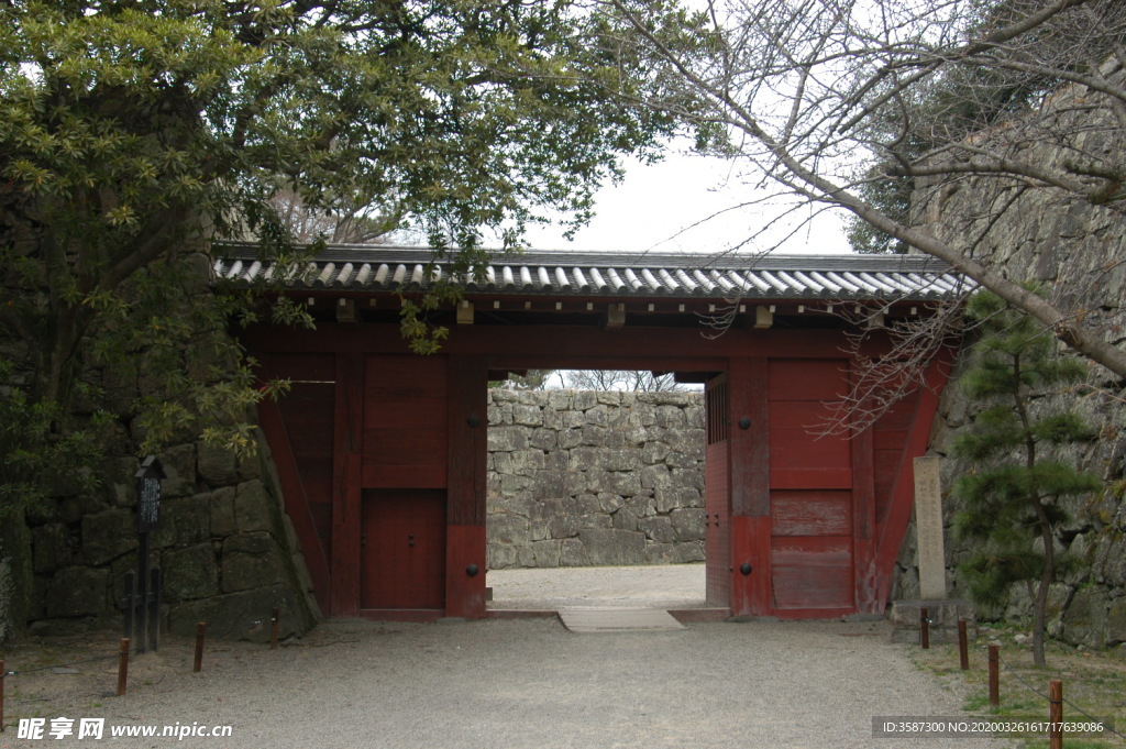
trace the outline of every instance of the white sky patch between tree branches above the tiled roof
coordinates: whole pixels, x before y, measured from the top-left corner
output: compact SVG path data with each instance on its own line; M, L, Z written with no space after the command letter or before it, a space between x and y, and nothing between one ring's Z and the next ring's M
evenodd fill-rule
M629 163L619 185L604 187L597 195L597 215L588 226L579 230L573 242L563 238L561 225L531 226L527 242L537 250L722 252L743 242L767 223L772 215L768 211L780 208L748 206L711 220L708 216L757 195L760 194L754 186L732 177L729 162L670 150L669 155L655 164ZM789 223L808 215L808 207L799 208ZM774 231L769 241L748 244L744 249L765 250L792 230ZM849 252L843 219L822 213L810 226L785 239L776 251Z

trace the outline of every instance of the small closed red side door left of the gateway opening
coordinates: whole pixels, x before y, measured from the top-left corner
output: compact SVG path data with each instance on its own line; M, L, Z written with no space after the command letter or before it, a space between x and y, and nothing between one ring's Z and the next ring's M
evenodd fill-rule
M361 608L446 606L446 492L364 492Z

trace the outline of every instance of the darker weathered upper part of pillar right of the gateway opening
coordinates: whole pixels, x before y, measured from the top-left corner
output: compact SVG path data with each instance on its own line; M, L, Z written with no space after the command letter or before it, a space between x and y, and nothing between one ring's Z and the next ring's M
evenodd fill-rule
M731 512L745 517L770 516L769 466L775 429L767 409L767 360L734 358L727 371L727 418L731 460ZM749 420L749 428L740 426Z

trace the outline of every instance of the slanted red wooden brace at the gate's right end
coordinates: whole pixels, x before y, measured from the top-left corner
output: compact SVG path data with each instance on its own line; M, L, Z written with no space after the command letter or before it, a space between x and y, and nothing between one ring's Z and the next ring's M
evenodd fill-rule
M920 390L911 422L910 437L900 457L900 469L892 489L891 506L875 546L876 606L882 610L892 586L892 571L906 533L908 519L914 505L914 470L912 460L927 452L930 429L938 412L938 402L946 387L955 351L942 349L927 368L926 387Z

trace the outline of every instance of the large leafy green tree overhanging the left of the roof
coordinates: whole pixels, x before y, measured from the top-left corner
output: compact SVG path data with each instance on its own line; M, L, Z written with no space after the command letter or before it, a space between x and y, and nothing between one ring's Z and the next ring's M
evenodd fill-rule
M694 43L691 16L650 12ZM486 230L516 247L543 216L582 222L618 158L655 158L677 127L632 104L663 83L640 56L619 64L620 23L547 0L3 3L0 339L23 378L12 408L62 444L81 431L68 416L79 392L104 382L132 393L119 411L141 452L198 434L252 448L247 410L279 385L260 389L223 336L262 309L200 285L213 243L252 239L301 273L282 193L324 215L399 219L458 274L488 258ZM439 279L404 305L415 350L440 346L446 331L427 316L455 300ZM270 314L309 323L285 300Z

